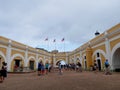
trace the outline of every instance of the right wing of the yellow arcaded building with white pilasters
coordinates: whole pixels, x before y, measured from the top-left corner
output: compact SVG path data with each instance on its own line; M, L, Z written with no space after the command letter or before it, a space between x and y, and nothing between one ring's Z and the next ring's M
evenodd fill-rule
M93 61L96 60L101 70L104 68L105 59L108 59L112 70L120 70L120 24L106 30L69 54L70 62L76 63L80 60L85 69L90 69Z

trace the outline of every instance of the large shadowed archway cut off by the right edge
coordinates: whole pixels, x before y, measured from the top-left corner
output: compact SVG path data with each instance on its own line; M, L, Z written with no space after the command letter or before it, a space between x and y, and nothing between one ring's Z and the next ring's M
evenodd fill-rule
M112 62L113 70L120 72L120 47L114 52Z

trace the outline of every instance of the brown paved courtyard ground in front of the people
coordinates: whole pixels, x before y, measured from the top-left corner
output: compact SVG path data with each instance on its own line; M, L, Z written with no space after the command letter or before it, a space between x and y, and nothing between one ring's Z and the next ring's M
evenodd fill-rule
M0 90L120 90L120 73L64 71L37 76L35 73L8 74Z

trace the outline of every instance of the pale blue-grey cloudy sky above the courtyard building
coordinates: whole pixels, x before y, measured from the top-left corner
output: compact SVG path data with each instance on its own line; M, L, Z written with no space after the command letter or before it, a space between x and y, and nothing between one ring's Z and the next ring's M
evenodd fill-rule
M120 0L0 0L0 36L48 51L73 51L96 31L120 23L119 9Z

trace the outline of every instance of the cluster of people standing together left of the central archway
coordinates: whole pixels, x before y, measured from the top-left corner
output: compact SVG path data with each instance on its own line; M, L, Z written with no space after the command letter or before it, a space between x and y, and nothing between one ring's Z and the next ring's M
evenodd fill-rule
M43 64L42 61L40 61L38 63L38 75L44 75L44 74L48 74L48 72L51 72L52 69L52 65L48 62L45 63L45 65Z

